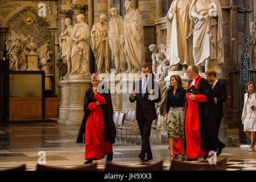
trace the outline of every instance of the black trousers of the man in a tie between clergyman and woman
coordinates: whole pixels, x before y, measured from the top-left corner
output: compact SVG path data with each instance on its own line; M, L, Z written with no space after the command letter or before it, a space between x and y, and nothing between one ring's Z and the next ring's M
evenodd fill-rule
M146 154L148 155L148 159L153 159L151 148L150 148L150 132L151 132L152 122L153 120L147 120L144 117L142 117L141 119L138 119L139 131L141 131L141 138L142 138L141 152L139 153L139 158L142 158L142 159L145 158Z

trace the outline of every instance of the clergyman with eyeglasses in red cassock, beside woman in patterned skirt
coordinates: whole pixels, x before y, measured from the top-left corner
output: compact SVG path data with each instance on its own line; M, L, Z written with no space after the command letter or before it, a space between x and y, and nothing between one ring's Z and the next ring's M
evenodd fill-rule
M203 156L207 159L208 152L214 148L214 138L209 135L208 100L211 95L207 80L199 75L199 68L189 65L187 69L188 89L193 85L201 94L187 93L185 138L187 160L198 160ZM208 123L207 123L208 122Z

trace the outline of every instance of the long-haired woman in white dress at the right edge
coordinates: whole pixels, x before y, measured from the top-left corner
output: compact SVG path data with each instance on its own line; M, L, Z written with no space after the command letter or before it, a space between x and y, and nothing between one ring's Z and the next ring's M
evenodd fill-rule
M249 152L254 151L255 147L255 137L256 137L256 96L255 96L255 84L254 82L249 82L246 85L245 101L243 105L242 113L242 124L243 131L250 138L251 144L249 147Z

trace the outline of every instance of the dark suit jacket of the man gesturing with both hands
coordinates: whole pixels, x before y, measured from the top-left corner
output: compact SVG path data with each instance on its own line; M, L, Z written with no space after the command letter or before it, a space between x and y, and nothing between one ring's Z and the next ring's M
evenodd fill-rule
M161 101L161 94L159 89L158 82L149 79L146 89L146 94L144 95L144 98L142 98L142 80L139 80L134 83L133 90L136 89L136 95L134 100L131 98L131 95L129 97L130 102L136 102L136 119L137 121L144 116L147 120L154 120L156 119L156 110L155 110L155 103ZM150 90L153 90L154 92L154 100L151 101L149 97Z

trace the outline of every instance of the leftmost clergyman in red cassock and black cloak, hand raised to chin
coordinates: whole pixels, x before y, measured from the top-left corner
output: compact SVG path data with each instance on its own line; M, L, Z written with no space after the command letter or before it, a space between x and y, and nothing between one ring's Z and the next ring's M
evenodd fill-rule
M107 162L113 159L112 144L115 142L113 106L108 88L99 89L98 75L91 76L92 88L86 90L84 98L84 118L80 127L77 143L83 142L85 134L84 164L101 160L107 155ZM102 86L102 85L101 85ZM106 91L106 92L105 92Z

